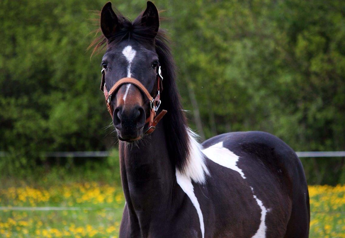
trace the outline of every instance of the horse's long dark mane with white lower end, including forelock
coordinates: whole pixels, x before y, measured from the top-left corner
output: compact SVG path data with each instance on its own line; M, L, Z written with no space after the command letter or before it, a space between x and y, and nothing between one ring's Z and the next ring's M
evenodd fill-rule
M119 23L123 26L114 37L106 39L103 34L93 40L88 49L93 47L92 54L105 47L109 48L125 39L152 43L152 31L141 24L142 13L132 22L116 12ZM99 18L98 18L99 19ZM99 22L99 21L98 21ZM97 32L101 32L99 28ZM169 47L169 39L164 29L159 29L154 38L156 52L162 67L163 88L161 93L161 109L168 111L162 119L169 157L176 168L195 182L203 183L208 170L201 146L196 142L193 133L187 126L187 119L182 110L180 94L176 85L176 66ZM198 146L199 145L199 146Z

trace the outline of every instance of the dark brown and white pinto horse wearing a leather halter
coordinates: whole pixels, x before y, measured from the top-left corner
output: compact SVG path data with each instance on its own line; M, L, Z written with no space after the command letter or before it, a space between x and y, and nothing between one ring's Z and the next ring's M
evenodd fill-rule
M134 21L108 2L102 34L91 43L93 52L106 48L101 90L119 139L126 199L119 237L308 237L308 187L294 150L260 131L200 144L159 23L150 1Z

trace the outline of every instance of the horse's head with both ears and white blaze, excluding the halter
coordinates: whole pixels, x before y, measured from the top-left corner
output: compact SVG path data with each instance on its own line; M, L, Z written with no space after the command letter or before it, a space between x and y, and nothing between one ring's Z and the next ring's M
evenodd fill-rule
M145 38L130 37L128 28L138 27L146 30ZM139 22L139 23L138 23ZM101 12L101 29L107 39L107 51L102 58L105 69L105 83L109 91L121 78L135 78L155 95L157 88L156 68L158 55L154 38L159 27L158 11L151 2L132 26L123 26L108 2ZM127 33L128 35L127 35ZM121 33L121 40L115 40ZM124 141L139 140L143 135L145 120L149 117L149 101L141 90L130 83L121 85L111 97L112 118L118 138Z

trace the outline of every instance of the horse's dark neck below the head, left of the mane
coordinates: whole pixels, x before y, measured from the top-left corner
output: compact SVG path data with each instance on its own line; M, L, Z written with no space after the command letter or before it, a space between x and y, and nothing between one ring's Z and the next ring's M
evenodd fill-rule
M165 211L173 197L175 166L161 127L137 145L120 142L122 186L128 209L137 216L139 211Z

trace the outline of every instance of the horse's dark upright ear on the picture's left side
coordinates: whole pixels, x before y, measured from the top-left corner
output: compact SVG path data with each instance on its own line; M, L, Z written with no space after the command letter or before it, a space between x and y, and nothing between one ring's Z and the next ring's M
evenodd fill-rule
M101 11L101 29L103 35L109 40L119 28L119 20L111 8L111 2L107 2Z

